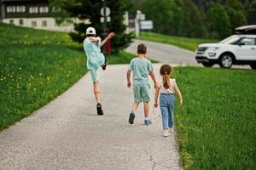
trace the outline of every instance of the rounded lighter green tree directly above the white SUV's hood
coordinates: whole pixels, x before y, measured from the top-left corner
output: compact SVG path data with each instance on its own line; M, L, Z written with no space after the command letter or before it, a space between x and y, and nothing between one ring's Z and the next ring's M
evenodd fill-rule
M231 34L230 18L220 3L215 3L209 9L208 21L212 37L228 37Z

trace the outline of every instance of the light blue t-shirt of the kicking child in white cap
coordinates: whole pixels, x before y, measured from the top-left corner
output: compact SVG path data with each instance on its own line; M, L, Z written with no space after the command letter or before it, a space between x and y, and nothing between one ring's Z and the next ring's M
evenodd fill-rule
M100 44L91 42L89 37L84 39L84 52L87 55L87 69L97 70L104 64L105 57L101 52Z

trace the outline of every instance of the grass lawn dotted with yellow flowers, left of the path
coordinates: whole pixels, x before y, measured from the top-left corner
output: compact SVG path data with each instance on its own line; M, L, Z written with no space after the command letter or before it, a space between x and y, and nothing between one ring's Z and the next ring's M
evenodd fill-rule
M0 24L0 131L20 121L77 82L86 72L81 44L67 33ZM110 64L127 64L120 51Z

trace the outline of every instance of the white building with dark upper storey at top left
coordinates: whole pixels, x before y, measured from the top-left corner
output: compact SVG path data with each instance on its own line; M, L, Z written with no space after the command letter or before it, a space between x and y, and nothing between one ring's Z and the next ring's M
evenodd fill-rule
M0 0L0 21L44 30L73 31L71 23L56 24L48 0Z

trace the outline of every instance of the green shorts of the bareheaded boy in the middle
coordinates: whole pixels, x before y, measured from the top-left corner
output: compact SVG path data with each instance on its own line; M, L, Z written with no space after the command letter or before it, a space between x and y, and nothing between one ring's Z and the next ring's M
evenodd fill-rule
M135 84L133 85L134 101L149 102L150 101L150 85L149 84Z

